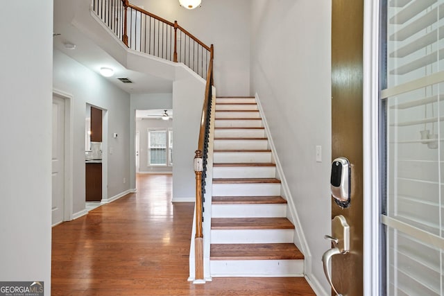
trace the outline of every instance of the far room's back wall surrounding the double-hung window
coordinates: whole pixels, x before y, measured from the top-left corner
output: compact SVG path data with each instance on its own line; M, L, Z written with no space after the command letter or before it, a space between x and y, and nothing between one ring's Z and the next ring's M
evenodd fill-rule
M172 166L148 166L148 128L171 128L173 130L173 120L162 119L138 119L136 120L136 130L140 134L139 148L139 168L141 173L172 173ZM174 134L174 132L173 132Z

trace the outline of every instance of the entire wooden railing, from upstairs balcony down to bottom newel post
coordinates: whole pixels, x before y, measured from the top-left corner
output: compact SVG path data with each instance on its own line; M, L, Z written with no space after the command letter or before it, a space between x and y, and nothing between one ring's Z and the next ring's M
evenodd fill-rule
M128 48L171 62L183 62L205 80L205 99L200 121L196 175L195 279L203 280L203 200L213 86L213 45L207 46L178 25L143 10L128 0L92 0L92 10Z

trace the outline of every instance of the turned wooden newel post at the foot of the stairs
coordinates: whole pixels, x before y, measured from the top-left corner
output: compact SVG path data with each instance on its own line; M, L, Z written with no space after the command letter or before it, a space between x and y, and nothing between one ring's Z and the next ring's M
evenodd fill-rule
M196 236L194 238L196 280L203 280L202 172L202 151L196 150L196 155L194 156L194 173L196 174Z

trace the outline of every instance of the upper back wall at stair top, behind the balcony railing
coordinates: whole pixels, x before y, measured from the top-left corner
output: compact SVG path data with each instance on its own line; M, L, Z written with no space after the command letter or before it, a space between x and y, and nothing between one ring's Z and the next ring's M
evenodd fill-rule
M219 96L250 95L250 0L203 0L187 10L178 0L131 0L214 44L214 85Z

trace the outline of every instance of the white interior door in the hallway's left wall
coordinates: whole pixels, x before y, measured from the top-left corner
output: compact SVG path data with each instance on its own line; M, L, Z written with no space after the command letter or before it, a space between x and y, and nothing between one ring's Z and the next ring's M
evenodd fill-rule
M53 96L52 225L63 221L65 207L65 101Z

